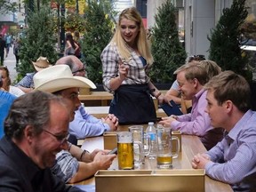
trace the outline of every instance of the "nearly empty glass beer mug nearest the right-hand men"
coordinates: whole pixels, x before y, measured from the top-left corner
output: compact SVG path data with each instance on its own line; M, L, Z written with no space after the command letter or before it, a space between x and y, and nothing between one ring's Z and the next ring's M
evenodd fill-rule
M160 169L172 168L172 158L179 156L179 151L180 151L179 138L176 136L172 136L171 128L164 128L163 126L157 126L156 138L157 138L157 154L156 154L157 168L160 168ZM176 150L174 150L175 152L172 152L173 140L177 142Z

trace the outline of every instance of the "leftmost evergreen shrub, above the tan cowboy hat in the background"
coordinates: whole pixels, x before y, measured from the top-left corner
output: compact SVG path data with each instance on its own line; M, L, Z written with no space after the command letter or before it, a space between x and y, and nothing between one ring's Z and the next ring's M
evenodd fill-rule
M29 12L28 28L20 44L20 75L35 71L31 61L36 61L40 56L54 63L57 60L55 44L51 11L43 7L38 12Z

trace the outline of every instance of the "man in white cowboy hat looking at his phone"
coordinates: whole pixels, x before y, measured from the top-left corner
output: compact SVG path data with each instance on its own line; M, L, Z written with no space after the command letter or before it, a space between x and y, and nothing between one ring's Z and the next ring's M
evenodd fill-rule
M96 88L91 80L82 76L73 76L67 65L55 65L37 72L34 83L36 90L52 92L68 101L68 108L71 109L70 121L74 119L75 110L81 105L78 99L79 88ZM89 153L68 143L67 150L62 150L56 155L57 163L52 167L52 172L68 183L84 180L98 170L108 169L116 155L107 155L107 153L108 151L99 149Z

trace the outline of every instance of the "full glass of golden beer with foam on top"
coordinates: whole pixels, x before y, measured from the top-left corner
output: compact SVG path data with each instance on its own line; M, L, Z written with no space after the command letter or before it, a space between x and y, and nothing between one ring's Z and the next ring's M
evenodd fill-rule
M117 151L119 170L134 169L132 132L117 132Z

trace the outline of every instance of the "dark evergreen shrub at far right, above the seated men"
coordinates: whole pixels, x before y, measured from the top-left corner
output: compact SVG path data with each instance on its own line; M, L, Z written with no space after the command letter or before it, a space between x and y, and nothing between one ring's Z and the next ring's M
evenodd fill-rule
M218 63L222 70L232 70L252 80L252 73L244 71L248 58L240 49L241 26L247 17L246 0L234 0L230 8L223 9L223 14L208 36L210 45L209 59ZM250 75L251 74L251 75Z

